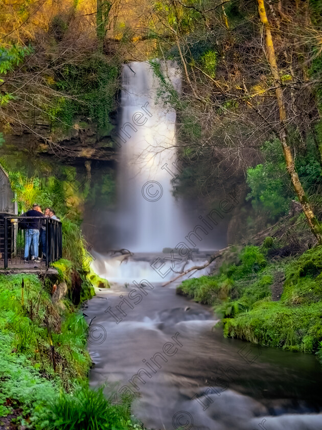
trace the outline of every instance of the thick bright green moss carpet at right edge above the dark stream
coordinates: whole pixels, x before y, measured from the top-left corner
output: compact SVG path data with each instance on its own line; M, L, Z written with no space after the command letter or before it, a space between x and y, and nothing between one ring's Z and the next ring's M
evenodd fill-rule
M281 264L273 263L266 270L273 274L280 268ZM269 285L269 279L263 275L238 300L239 305L246 305L247 312L235 313L234 318L223 320L225 336L293 351L317 352L322 339L321 269L321 246L286 262L283 267L286 279L279 302L270 302L268 291L259 288Z

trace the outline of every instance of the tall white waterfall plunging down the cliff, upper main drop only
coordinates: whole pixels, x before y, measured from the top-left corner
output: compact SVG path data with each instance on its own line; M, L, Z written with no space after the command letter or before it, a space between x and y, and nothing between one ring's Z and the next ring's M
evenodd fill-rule
M176 63L161 62L160 68L180 92ZM122 115L114 139L120 150L116 245L135 252L174 247L187 232L171 185L180 168L174 148L176 114L159 92L159 78L148 62L123 66Z

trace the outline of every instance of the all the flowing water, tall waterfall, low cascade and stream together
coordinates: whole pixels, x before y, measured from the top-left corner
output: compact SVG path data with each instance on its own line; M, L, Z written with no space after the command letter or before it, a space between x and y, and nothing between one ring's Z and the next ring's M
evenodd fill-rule
M160 68L179 91L174 63ZM158 88L148 63L124 66L119 206L108 234L135 254L95 254L94 270L111 288L97 291L84 310L95 362L90 383L107 382L116 403L134 396L133 413L156 430L321 430L322 373L314 356L225 339L210 307L176 295L175 283L163 286L206 261L196 244L223 247L224 228L202 216L192 227L172 196L175 113L157 101ZM179 253L162 253L176 244Z

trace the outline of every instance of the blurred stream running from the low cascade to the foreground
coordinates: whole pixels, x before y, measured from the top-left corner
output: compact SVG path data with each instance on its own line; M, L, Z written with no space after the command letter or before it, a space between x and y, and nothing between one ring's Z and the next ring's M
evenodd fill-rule
M91 386L107 383L114 403L134 395L132 413L156 430L322 428L314 356L225 339L211 307L163 287L148 260L96 263L112 282L84 310Z

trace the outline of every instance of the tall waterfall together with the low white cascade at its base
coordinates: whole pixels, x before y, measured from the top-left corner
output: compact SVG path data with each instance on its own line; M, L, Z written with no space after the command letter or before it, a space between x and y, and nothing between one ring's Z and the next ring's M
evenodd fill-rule
M163 254L164 248L176 248L177 264L169 268L178 271L194 265L190 254L194 248L222 247L216 238L220 235L214 228L216 224L207 231L204 224L199 225L202 217L189 220L183 202L173 196L171 180L180 173L181 165L176 148L176 113L165 100L175 92L180 94L181 77L174 61L156 60L154 65L162 74L163 84L149 62L130 62L123 66L121 118L114 138L120 154L118 206L110 213L108 226L113 248L126 248L136 256L149 254L150 258L129 259L125 265L123 259L97 255L94 269L113 281L131 281L134 273L155 282L169 280L173 277L172 270L165 267L163 272L168 274L160 277L151 267L158 257L159 260L169 258ZM157 253L159 256L152 255ZM198 255L200 263L206 258L206 254ZM202 274L206 272L198 272Z

